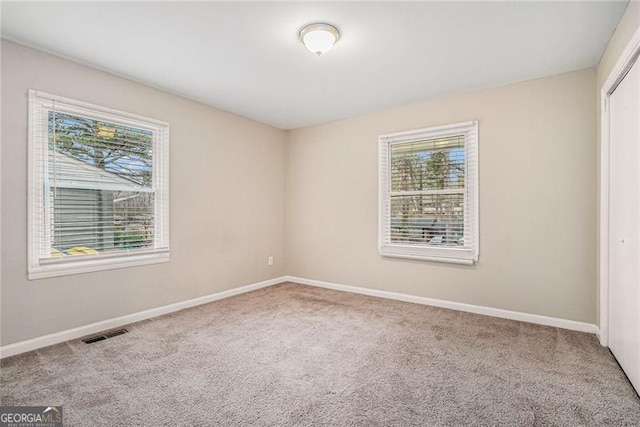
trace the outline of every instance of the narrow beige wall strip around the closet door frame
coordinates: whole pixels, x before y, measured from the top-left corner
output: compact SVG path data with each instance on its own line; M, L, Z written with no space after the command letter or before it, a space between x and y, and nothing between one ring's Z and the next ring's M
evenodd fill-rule
M634 0L629 2L629 5L627 6L627 10L625 11L624 15L622 15L620 22L618 22L618 26L616 27L616 30L613 33L613 36L611 37L611 40L609 40L609 44L607 45L607 48L605 49L604 54L600 59L600 64L598 65L597 84L596 84L597 117L598 117L598 120L597 120L598 150L597 150L596 168L598 171L597 172L598 182L600 181L600 124L601 124L600 123L600 106L602 105L602 97L601 97L602 86L604 85L605 81L609 77L609 73L611 73L611 71L613 70L613 67L616 65L616 62L620 58L620 55L622 54L624 49L627 47L627 43L629 43L629 40L636 33L636 31L638 31L639 28L640 28L640 1ZM598 231L597 232L599 237L599 233L600 233L600 214L599 214L600 188L599 187L597 191L597 206L598 206L597 208L598 209L598 217L597 217ZM599 247L600 245L599 238L597 242L598 242L597 245ZM599 252L598 252L598 255L599 255ZM599 256L597 257L596 263L598 265L598 275L599 275L600 274ZM597 296L596 309L597 309L597 315L598 315L597 316L598 324L600 324L600 282L599 280L597 285L598 286L597 286L597 292L596 292L596 296Z

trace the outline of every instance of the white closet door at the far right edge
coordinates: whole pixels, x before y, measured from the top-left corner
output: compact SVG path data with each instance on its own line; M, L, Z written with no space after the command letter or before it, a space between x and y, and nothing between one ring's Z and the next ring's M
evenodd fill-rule
M609 107L609 348L640 391L640 61Z

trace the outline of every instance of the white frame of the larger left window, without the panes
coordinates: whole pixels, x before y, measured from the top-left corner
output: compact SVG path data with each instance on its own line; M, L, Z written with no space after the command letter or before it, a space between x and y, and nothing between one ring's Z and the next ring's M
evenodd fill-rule
M42 246L51 246L51 221L48 191L45 189L48 162L38 167L38 158L48 151L48 123L45 111L56 105L56 111L91 117L146 129L153 132L154 248L132 252L54 257L41 259ZM28 278L65 276L93 271L156 264L169 261L169 124L160 120L101 107L45 92L29 90L28 129ZM44 212L37 207L45 206ZM44 216L44 218L41 217ZM44 236L44 239L42 239Z

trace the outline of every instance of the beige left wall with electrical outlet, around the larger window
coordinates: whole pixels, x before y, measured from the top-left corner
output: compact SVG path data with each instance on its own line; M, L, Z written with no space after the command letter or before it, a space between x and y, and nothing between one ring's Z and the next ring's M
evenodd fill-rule
M29 88L170 123L169 263L27 280ZM2 345L283 275L284 150L281 130L3 41Z

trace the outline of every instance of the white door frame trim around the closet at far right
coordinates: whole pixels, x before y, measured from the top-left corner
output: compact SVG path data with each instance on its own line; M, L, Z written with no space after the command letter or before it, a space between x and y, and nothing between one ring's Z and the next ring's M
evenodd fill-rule
M600 344L609 345L609 97L640 57L640 28L631 37L600 91Z

